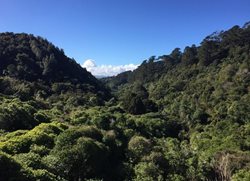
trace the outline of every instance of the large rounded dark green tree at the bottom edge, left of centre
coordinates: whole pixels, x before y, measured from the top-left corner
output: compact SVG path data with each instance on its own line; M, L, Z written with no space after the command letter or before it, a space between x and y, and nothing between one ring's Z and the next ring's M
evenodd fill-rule
M61 175L70 180L102 178L107 164L107 148L90 138L79 138L72 146L54 150L59 160L57 168ZM59 171L58 170L58 171Z

